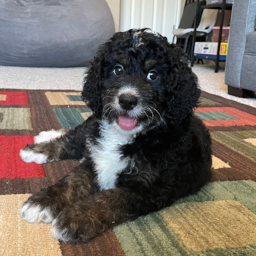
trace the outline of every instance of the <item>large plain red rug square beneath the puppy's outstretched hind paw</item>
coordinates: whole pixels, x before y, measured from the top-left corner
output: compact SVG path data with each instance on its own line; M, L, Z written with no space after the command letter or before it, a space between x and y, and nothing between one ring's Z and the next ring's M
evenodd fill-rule
M20 159L20 149L34 143L34 136L0 135L0 178L45 177L42 165Z

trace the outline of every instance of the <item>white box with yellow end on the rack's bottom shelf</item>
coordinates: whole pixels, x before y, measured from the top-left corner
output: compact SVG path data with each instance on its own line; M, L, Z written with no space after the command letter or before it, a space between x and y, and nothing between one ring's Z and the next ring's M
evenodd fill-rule
M219 55L227 55L227 42L222 42L220 45ZM217 42L195 42L195 51L197 54L217 55Z

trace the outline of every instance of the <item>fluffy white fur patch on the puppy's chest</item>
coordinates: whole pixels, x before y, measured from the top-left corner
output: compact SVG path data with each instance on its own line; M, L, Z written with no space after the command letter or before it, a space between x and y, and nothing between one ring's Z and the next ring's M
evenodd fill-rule
M100 124L100 138L97 145L91 145L91 158L94 160L100 189L113 189L118 173L124 170L129 158L121 159L121 145L131 143L132 135L121 135L107 121Z

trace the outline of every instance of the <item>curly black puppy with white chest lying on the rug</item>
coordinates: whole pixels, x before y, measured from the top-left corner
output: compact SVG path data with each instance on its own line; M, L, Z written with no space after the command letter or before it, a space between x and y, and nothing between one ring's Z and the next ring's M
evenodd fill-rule
M197 78L166 37L146 29L114 34L91 62L82 97L93 111L83 124L41 132L20 151L25 162L81 162L29 197L23 219L52 223L61 241L88 241L210 181L210 135L193 115Z

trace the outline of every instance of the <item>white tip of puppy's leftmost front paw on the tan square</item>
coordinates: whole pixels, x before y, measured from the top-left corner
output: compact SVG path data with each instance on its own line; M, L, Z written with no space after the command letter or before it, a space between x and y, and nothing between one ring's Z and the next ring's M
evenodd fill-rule
M42 208L26 202L20 208L20 217L31 223L50 223L53 221L53 214L49 208Z

